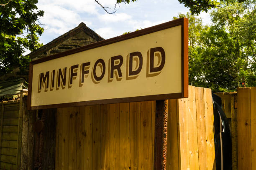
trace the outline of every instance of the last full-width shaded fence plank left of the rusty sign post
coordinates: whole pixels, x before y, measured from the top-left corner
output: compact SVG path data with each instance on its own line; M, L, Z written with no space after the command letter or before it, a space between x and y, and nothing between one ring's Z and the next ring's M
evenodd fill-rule
M141 113L141 170L153 169L151 101L139 102Z

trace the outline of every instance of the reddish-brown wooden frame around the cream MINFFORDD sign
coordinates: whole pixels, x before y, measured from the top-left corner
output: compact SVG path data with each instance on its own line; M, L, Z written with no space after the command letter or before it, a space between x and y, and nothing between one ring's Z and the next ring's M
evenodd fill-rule
M115 42L128 40L134 37L139 37L142 35L150 34L152 32L157 32L160 30L164 30L167 28L172 28L175 26L182 26L182 52L181 52L181 60L182 60L182 92L180 93L172 93L172 94L161 94L161 95L146 95L146 96L138 96L138 97L124 97L124 98L114 98L114 99L104 99L104 100L91 100L91 101L83 101L83 102L69 102L69 103L60 103L60 104L52 104L52 105L40 105L40 106L31 106L31 90L32 90L32 76L33 76L33 65L54 60L59 57L64 57L67 55L71 55L77 52L82 52L85 50L90 50L93 48L101 47L104 45L109 45ZM138 30L135 32L131 32L125 35L121 35L118 37L113 37L108 40L103 40L100 42L95 42L90 45L86 45L83 47L79 47L73 50L69 50L66 52L61 52L56 55L51 55L49 57L44 57L38 60L34 60L30 62L29 67L29 84L28 84L28 102L27 107L28 110L35 109L46 109L46 108L56 108L56 107L74 107L81 105L97 105L97 104L108 104L108 103L121 103L121 102L138 102L138 101L147 101L147 100L164 100L164 99L174 99L174 98L184 98L188 97L188 19L180 18L177 20L169 21L167 23L163 23L160 25L156 25L153 27L145 28L143 30Z

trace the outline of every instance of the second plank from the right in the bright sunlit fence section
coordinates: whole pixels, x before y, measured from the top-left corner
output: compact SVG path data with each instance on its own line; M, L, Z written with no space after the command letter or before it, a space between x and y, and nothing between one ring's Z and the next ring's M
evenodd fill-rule
M195 87L195 100L197 112L197 142L198 142L198 158L199 169L207 169L207 147L205 132L205 100L204 88Z

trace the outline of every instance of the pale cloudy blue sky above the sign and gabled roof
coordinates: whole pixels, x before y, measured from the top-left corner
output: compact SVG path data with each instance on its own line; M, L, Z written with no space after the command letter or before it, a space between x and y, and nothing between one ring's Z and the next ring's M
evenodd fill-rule
M114 11L115 0L99 0ZM120 4L114 14L106 13L94 0L38 0L37 7L44 10L40 19L46 29L40 37L43 44L85 23L105 39L122 35L127 31L147 28L172 20L178 13L189 10L178 0L138 0ZM210 23L209 12L199 15L204 24Z

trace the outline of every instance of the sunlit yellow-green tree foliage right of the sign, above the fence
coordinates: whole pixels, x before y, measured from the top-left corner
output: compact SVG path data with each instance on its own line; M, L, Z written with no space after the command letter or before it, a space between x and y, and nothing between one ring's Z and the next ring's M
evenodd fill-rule
M230 2L211 13L212 25L189 13L189 83L213 91L256 86L256 2ZM175 18L174 18L175 19Z

